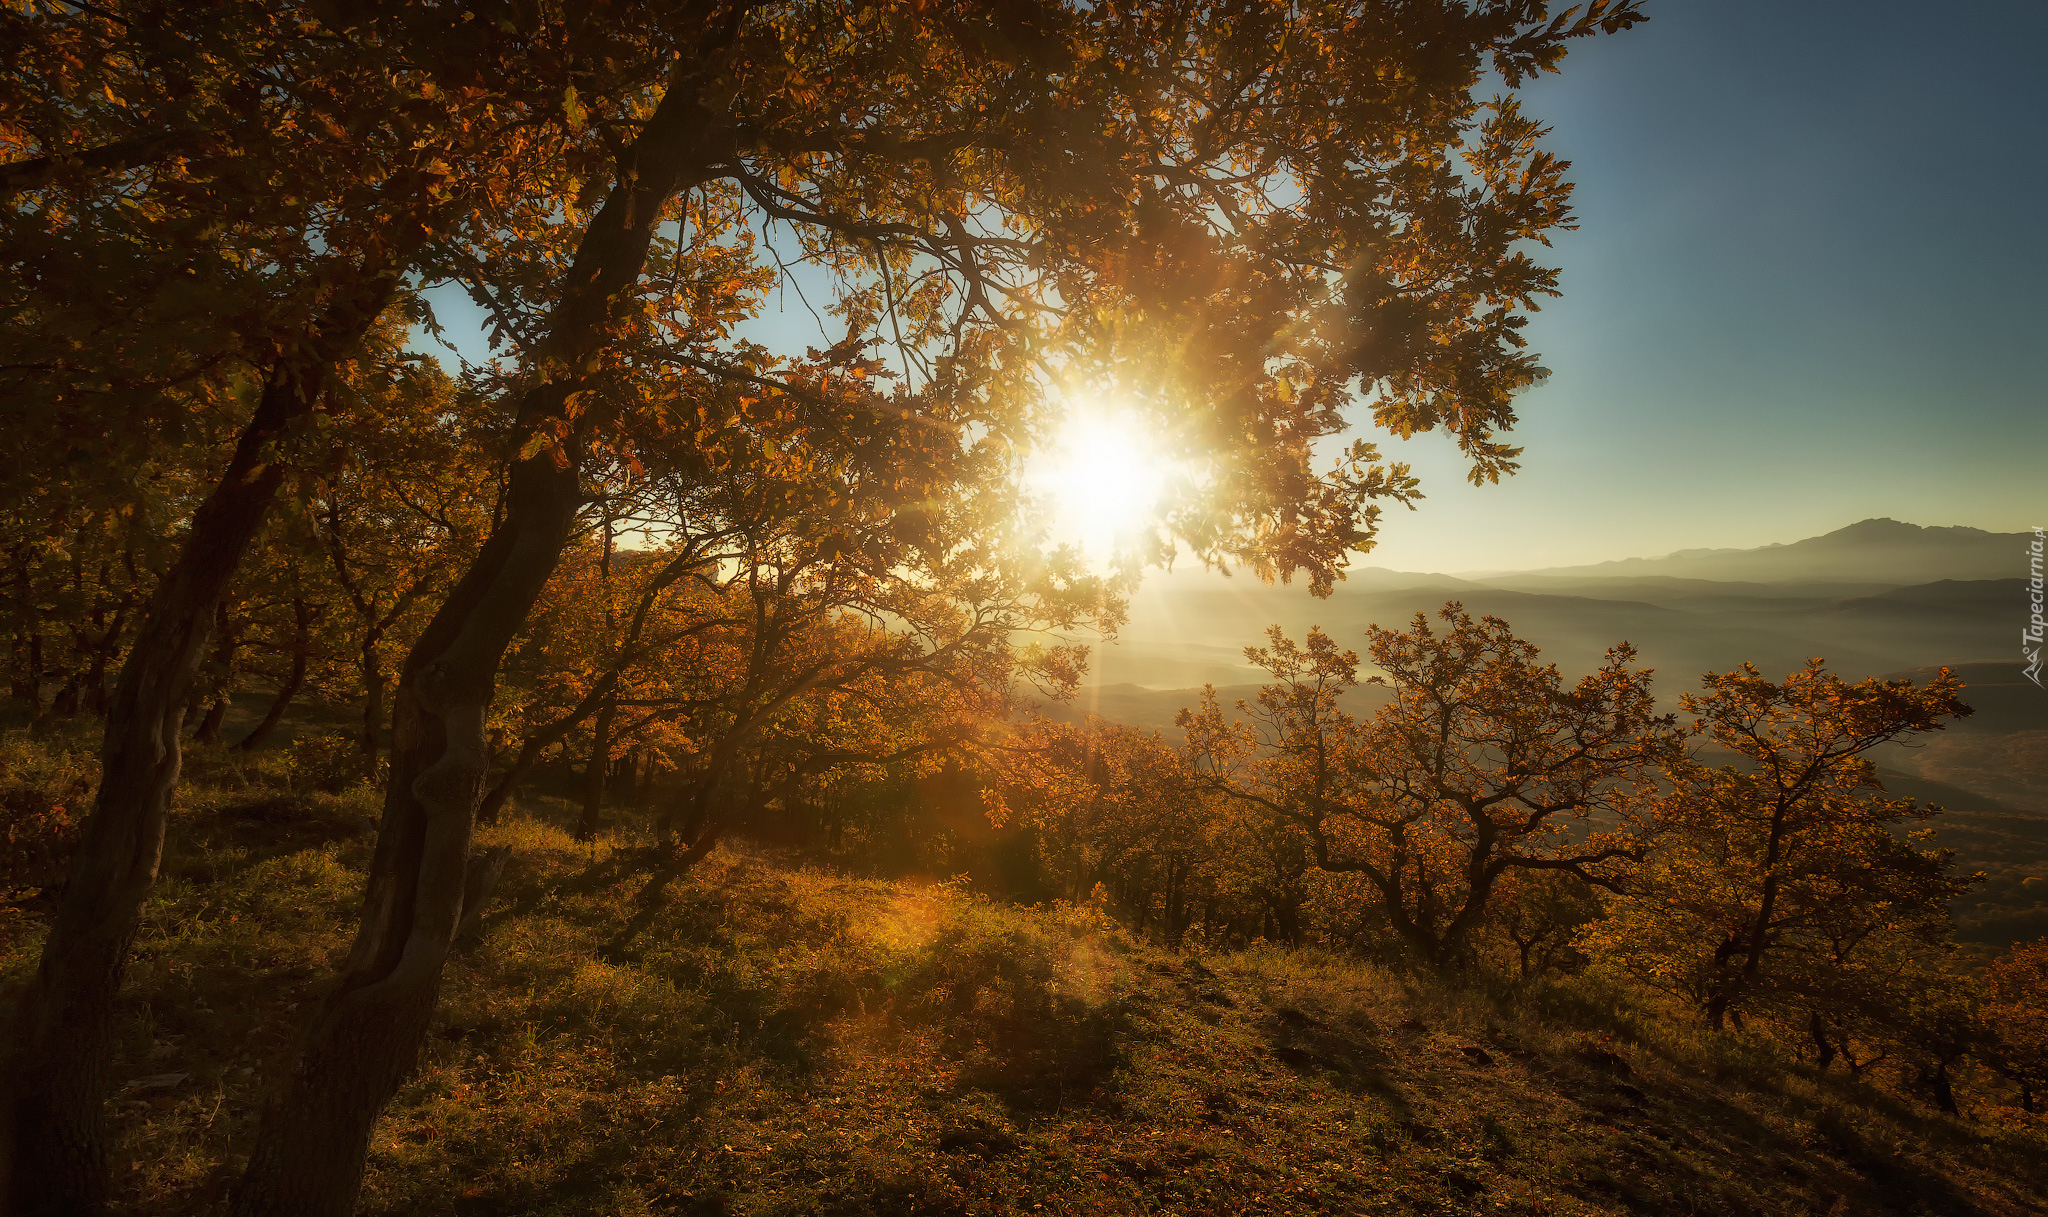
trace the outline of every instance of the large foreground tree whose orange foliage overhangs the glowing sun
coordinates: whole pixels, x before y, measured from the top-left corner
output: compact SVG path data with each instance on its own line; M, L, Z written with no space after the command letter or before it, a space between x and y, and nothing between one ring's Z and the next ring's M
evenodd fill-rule
M637 367L700 375L700 420L743 404L725 416L803 412L870 436L860 471L885 467L877 447L948 434L985 486L1001 477L999 445L1042 418L1034 369L1079 383L1145 371L1143 352L1198 352L1133 387L1212 461L1214 494L1169 527L1204 555L1321 584L1370 539L1372 500L1409 488L1366 445L1333 473L1309 467L1309 440L1343 426L1360 379L1382 389L1386 426L1444 424L1479 475L1509 467L1493 434L1536 375L1516 309L1554 283L1513 246L1569 219L1567 186L1534 148L1540 129L1509 102L1475 123L1470 90L1487 66L1509 86L1554 66L1567 39L1636 20L1630 4L1552 20L1526 4L831 12L680 12L645 31L676 55L664 86L578 94L631 137L608 191L535 209L575 225L584 199L602 199L561 244L573 258L526 260L565 275L496 277L489 299L524 367L506 516L408 660L362 936L266 1110L244 1211L352 1192L369 1123L432 1008L483 707L571 535L580 469L592 451L651 440L655 420L670 445L705 434L643 410ZM819 37L821 18L844 35ZM795 232L801 258L840 279L848 338L764 375L758 352L723 346L723 318L688 307L696 260L643 287L684 193L690 232L733 209ZM655 318L666 332L643 324ZM866 391L881 369L860 359L883 334L905 377L889 397ZM946 502L950 486L922 500Z

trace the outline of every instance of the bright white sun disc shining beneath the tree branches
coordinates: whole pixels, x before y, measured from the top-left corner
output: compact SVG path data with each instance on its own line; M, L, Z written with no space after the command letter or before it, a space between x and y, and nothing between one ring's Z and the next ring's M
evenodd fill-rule
M1081 404L1030 465L1055 545L1106 563L1151 527L1171 463L1130 410Z

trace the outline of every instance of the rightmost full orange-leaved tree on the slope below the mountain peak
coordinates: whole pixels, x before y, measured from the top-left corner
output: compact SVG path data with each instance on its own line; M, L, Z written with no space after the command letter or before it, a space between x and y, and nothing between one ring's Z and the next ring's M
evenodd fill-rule
M1944 940L1948 901L1970 879L1954 875L1948 850L1896 836L1939 807L1884 797L1868 752L1968 715L1962 682L1944 668L1923 686L1847 684L1812 660L1782 684L1745 664L1704 686L1681 705L1737 764L1669 766L1659 811L1669 844L1602 951L1718 1029L1761 1008L1765 981L1792 1002L1839 983L1866 951Z

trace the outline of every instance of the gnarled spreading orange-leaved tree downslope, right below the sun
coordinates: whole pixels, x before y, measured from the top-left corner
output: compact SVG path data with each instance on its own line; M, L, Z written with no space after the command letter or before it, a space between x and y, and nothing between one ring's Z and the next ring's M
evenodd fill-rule
M1362 875L1395 934L1436 965L1462 963L1507 873L1556 871L1620 887L1647 850L1657 764L1677 748L1649 670L1608 652L1565 686L1505 621L1458 602L1407 633L1368 627L1393 701L1366 723L1341 709L1358 654L1274 627L1245 656L1274 674L1245 721L1214 693L1182 711L1188 748L1231 797L1307 834L1315 865Z

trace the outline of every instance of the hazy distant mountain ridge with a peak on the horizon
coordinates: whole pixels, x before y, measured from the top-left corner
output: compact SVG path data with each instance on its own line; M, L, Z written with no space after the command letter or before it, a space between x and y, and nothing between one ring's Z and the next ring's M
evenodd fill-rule
M1485 582L1669 576L1765 584L1827 580L1898 586L1933 580L1997 580L2025 574L2028 541L2032 541L2028 533L1923 529L1878 518L1790 545L1679 549L1665 557L1624 557L1593 565L1501 572Z

